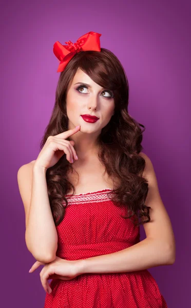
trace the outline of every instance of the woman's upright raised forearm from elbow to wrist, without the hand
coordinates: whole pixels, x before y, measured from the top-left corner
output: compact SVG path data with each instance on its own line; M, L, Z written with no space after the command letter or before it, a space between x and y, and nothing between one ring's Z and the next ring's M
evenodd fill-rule
M58 235L48 198L46 169L35 164L25 240L27 248L37 261L47 263L55 259Z

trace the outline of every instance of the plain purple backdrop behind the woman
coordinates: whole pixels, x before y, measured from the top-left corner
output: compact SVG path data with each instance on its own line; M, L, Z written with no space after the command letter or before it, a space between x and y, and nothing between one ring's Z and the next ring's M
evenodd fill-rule
M18 168L39 154L60 73L52 48L89 32L121 61L129 113L146 126L144 152L154 164L176 237L174 265L150 268L169 308L190 304L190 6L186 1L12 1L1 5L1 306L43 307L35 259L25 244ZM143 239L145 233L141 227ZM80 307L79 307L80 308Z

